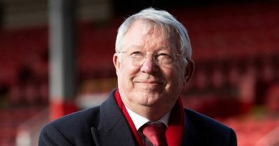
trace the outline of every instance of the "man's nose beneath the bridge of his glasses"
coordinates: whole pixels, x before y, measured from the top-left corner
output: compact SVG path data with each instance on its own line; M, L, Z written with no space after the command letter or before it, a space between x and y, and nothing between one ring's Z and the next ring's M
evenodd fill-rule
M142 66L140 67L140 71L145 72L145 73L151 73L151 72L158 71L158 65L157 65L156 61L154 60L153 55L146 55L144 63L142 63Z

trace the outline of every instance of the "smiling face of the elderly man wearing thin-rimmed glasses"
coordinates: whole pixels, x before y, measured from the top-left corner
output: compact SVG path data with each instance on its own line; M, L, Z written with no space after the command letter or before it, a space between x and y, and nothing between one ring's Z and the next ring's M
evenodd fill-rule
M171 109L174 106L188 80L187 67L181 56L174 56L174 63L170 67L163 67L156 63L151 54L181 55L179 49L176 49L176 42L174 35L168 37L159 26L149 24L146 27L146 23L141 20L130 26L121 44L121 52L125 54L114 54L119 92L124 104L130 109L139 106ZM148 54L142 64L138 65L131 59L130 52L134 52L131 50Z

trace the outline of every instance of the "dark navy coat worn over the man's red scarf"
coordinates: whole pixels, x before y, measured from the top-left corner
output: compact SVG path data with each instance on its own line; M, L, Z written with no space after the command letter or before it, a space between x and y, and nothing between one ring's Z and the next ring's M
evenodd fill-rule
M128 122L116 104L114 91L100 106L66 115L47 124L40 132L39 145L137 145ZM184 111L183 145L236 145L236 134L229 127L195 111Z

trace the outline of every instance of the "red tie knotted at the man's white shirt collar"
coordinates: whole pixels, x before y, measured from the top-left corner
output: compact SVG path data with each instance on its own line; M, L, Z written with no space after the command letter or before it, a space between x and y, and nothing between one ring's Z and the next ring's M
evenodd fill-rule
M165 131L167 127L162 122L156 124L144 124L142 133L148 138L155 146L165 146Z

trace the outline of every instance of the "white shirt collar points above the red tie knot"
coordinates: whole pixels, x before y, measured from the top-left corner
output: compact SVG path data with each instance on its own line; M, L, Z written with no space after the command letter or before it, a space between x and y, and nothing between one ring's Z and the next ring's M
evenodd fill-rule
M130 110L130 108L128 108L127 106L125 106L128 114L130 115L131 119L133 120L134 124L135 124L135 128L138 130L140 129L140 127L142 127L142 125L144 125L146 122L149 122L151 120L147 119L146 117L142 117L141 115L133 112L132 110ZM170 111L167 112L163 117L161 117L158 121L154 121L154 122L163 122L166 126L169 123L169 115L170 115Z

